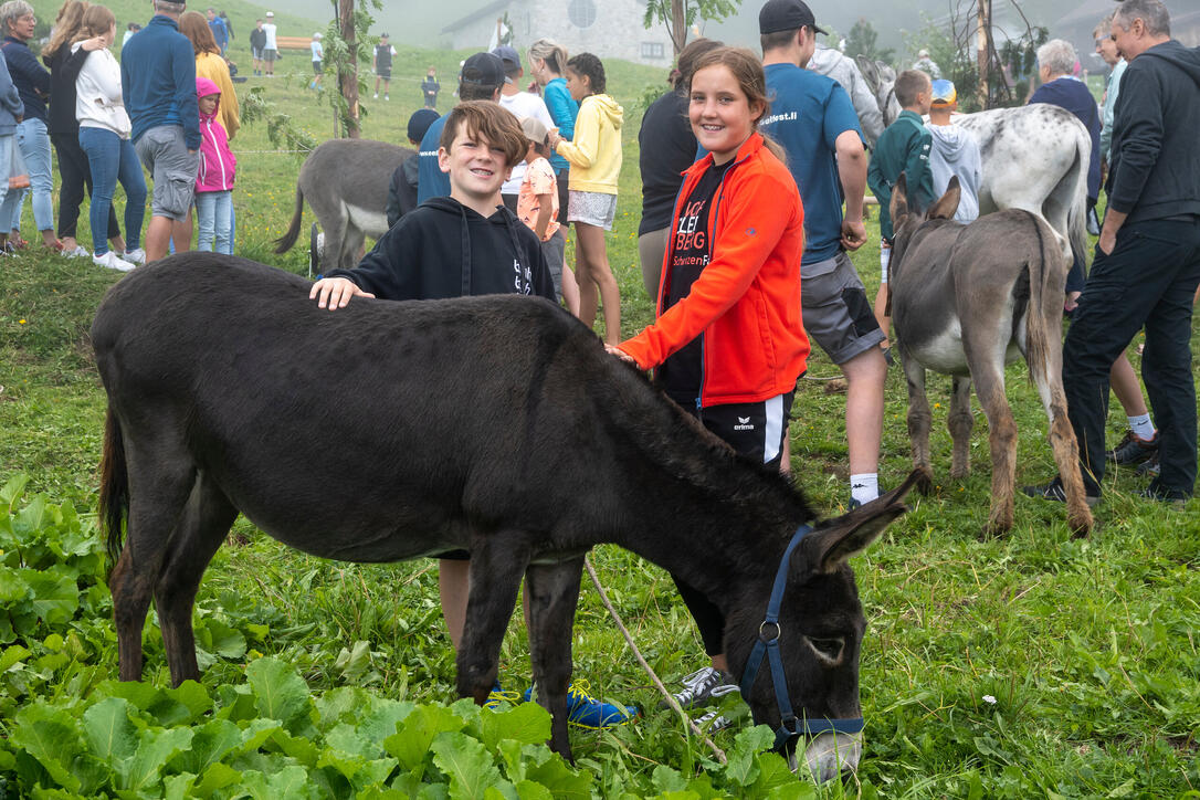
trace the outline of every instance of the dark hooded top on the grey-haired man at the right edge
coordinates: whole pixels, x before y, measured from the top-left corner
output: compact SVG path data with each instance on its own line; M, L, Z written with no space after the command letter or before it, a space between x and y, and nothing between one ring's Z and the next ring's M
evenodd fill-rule
M1200 48L1171 40L1129 62L1110 161L1109 207L1127 224L1200 215Z

